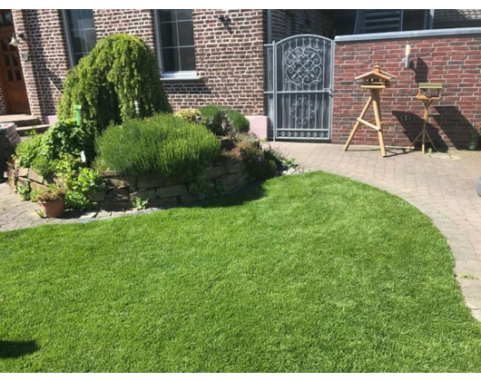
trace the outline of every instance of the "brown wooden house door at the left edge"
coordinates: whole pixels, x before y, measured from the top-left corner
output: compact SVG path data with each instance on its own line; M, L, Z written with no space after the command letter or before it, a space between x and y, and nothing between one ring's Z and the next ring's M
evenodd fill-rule
M0 83L6 112L30 113L20 54L10 44L14 32L11 10L0 9Z

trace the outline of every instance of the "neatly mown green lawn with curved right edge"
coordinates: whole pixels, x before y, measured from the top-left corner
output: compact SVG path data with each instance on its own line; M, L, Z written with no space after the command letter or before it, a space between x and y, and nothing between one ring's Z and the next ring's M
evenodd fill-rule
M481 371L445 239L337 176L0 248L0 372Z

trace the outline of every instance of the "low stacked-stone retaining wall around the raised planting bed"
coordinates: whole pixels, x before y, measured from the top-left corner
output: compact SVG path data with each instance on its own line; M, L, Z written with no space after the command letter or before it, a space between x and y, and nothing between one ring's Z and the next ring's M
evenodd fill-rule
M104 210L132 208L136 198L149 200L152 207L172 207L200 200L195 191L199 186L175 177L123 176L106 171L102 178L104 189L95 191L91 199ZM29 182L31 190L44 190L53 182L61 185L58 179L46 180L37 171L25 168L18 171L18 181ZM249 182L249 174L241 161L219 161L207 171L202 182L206 199L214 199L244 188Z

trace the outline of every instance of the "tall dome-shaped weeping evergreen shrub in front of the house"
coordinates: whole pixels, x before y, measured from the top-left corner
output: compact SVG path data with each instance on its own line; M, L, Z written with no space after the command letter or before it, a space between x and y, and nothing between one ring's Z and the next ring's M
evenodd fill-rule
M59 119L74 118L74 104L81 104L83 117L95 121L101 130L111 122L172 112L151 49L128 34L100 40L68 73Z

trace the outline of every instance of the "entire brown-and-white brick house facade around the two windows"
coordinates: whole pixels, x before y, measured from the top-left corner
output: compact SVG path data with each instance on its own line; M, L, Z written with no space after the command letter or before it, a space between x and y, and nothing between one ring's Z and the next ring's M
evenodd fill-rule
M94 9L97 38L126 33L142 37L154 52L157 36L152 9ZM15 30L26 35L20 53L31 111L54 115L70 68L64 20L59 9L15 9ZM194 9L198 81L166 82L174 109L226 104L247 115L264 113L263 9ZM231 19L229 30L220 15ZM0 98L0 113L4 111Z

